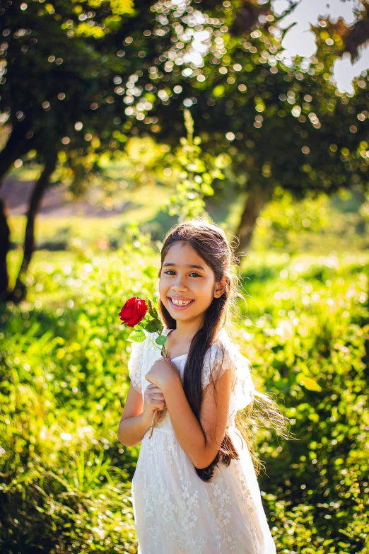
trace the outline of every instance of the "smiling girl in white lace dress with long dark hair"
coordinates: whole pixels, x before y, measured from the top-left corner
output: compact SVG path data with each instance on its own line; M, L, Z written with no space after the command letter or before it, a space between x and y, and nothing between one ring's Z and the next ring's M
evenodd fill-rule
M237 261L221 227L205 219L165 236L158 292L168 357L151 340L132 343L118 432L125 446L142 441L131 487L139 554L276 553L238 410L259 396L271 425L284 432L287 418L255 390L225 328Z

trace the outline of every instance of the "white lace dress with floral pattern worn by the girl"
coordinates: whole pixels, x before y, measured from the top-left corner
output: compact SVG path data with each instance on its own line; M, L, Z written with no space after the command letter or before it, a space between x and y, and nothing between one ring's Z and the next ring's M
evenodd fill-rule
M150 333L152 340L157 336ZM145 375L158 357L160 350L148 338L132 342L129 376L143 395L150 384ZM182 380L186 357L172 358ZM216 379L231 368L235 369L235 379L228 432L240 460L233 459L228 467L219 463L211 482L204 483L177 441L167 412L156 423L151 439L149 432L144 435L132 480L139 554L276 554L252 459L235 427L237 410L245 408L253 397L250 361L222 330L204 359L203 388L209 384L210 371Z

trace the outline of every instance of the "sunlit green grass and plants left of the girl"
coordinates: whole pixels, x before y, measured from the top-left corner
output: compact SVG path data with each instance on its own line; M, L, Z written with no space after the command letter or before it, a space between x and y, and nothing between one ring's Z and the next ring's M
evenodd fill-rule
M116 255L41 261L30 303L1 318L1 552L136 552L138 451L117 442L130 350L117 311L127 294L153 294L145 253L143 237Z

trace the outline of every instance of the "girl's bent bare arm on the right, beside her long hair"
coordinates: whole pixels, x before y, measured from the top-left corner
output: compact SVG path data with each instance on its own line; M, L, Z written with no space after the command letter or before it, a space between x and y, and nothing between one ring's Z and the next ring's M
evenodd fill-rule
M230 391L232 388L232 371L223 371L215 381L216 397L213 384L204 389L204 400L201 405L201 425L185 396L179 375L173 375L165 384L163 394L168 408L175 435L194 466L204 469L211 464L221 445L228 420Z

